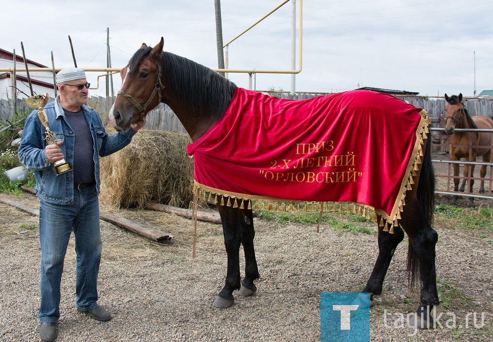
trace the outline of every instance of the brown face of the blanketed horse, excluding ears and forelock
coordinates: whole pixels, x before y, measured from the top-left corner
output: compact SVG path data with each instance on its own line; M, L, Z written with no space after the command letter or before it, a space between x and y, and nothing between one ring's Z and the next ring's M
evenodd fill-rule
M158 96L153 93L158 77L157 66L149 58L144 58L135 70L131 70L131 65L132 61L120 71L122 87L108 114L111 126L119 132L128 130L131 124L140 121L142 115L159 104ZM142 112L147 101L150 103Z

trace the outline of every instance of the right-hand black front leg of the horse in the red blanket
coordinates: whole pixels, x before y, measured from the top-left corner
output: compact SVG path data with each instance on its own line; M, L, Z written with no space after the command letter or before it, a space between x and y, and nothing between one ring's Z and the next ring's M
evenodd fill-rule
M242 282L238 294L241 296L251 296L257 291L253 281L259 277L255 250L253 248L253 238L255 237L253 211L251 209L242 209L241 215L241 236L243 249L245 251L245 279Z

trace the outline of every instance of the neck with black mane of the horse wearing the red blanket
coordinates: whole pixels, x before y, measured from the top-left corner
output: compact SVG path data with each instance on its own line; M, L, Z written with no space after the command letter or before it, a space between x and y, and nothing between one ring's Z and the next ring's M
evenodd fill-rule
M167 104L175 112L192 141L197 141L222 117L236 90L236 85L183 57L174 56L168 79L170 97Z

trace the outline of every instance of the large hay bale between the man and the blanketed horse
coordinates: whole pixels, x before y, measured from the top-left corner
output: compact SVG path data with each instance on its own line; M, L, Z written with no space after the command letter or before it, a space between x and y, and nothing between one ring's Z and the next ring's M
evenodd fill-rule
M128 146L101 158L101 202L123 208L153 202L189 207L193 200L189 143L183 133L140 130Z

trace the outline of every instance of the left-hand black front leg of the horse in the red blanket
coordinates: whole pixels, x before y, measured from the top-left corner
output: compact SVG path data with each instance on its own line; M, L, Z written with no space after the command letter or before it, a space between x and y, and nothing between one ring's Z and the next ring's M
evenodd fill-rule
M228 270L226 283L212 305L215 308L229 308L235 302L233 291L240 288L241 215L239 208L218 205L217 209L221 215Z

